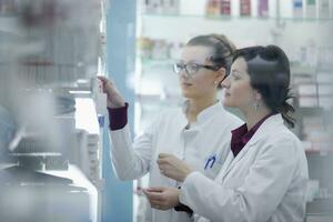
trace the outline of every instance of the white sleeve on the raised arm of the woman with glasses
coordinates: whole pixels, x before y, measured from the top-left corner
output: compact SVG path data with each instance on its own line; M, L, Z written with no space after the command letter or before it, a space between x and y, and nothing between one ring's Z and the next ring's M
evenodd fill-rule
M159 122L154 121L153 123L158 124ZM134 180L148 173L154 150L153 125L134 141L131 138L129 124L109 133L112 142L111 160L117 176L120 180Z

